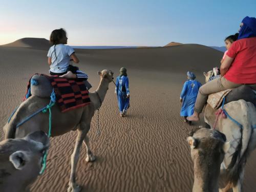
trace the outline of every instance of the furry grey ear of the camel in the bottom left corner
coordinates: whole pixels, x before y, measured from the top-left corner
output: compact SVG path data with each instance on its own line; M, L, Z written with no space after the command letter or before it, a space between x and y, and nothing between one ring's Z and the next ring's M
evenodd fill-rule
M16 169L22 170L28 161L28 154L24 151L16 151L10 155L9 160Z

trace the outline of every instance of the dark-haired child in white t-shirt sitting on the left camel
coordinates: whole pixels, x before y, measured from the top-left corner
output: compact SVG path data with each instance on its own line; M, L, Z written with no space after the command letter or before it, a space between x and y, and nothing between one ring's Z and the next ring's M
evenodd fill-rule
M67 33L64 29L53 30L50 36L50 42L53 44L48 51L48 63L50 65L50 74L59 75L65 78L78 78L87 80L88 75L72 66L70 61L78 63L79 60L72 47L67 46Z

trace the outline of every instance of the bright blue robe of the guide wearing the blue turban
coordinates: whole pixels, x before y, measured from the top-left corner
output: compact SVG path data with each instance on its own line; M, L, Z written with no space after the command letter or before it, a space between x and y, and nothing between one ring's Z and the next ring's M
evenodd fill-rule
M195 103L199 88L202 84L197 80L187 80L180 94L182 98L182 106L180 110L180 116L191 116L194 113Z

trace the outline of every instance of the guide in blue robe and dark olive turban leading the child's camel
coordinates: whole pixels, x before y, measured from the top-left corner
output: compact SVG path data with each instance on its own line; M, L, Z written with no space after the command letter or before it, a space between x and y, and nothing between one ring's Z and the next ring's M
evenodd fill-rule
M122 67L120 69L120 75L116 78L116 89L118 107L120 116L126 116L127 109L130 106L130 90L129 90L129 79L127 77L126 69Z

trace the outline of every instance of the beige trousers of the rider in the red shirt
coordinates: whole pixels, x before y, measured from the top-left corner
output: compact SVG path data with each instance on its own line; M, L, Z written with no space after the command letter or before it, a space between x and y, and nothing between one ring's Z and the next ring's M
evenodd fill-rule
M204 105L207 103L209 94L217 93L219 91L224 91L227 89L237 88L241 85L242 84L228 81L225 77L220 77L205 83L199 89L195 104L195 112L201 113L203 111Z

